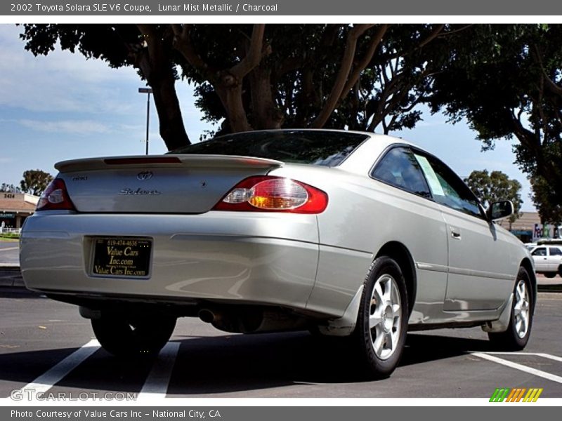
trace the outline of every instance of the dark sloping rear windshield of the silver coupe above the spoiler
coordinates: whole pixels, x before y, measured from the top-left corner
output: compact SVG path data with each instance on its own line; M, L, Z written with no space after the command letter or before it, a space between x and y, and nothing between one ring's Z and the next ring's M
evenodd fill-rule
M239 155L338 166L367 135L330 131L256 131L224 135L169 154Z

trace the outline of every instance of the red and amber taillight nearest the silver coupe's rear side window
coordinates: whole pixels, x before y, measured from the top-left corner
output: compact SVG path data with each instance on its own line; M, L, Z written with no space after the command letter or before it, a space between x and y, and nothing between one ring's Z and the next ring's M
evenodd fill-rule
M239 182L213 210L320 213L328 206L322 190L289 178L259 176Z

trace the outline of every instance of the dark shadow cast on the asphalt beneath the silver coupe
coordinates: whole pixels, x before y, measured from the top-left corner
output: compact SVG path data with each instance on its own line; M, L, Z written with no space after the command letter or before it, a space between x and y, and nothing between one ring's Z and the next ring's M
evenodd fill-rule
M174 337L174 342L179 342L181 347L174 362L167 396L235 392L243 395L244 391L266 391L301 383L372 381L358 363L350 342L338 339L341 338L318 338L308 332ZM416 333L408 335L400 366L489 349L487 340ZM0 354L0 367L3 367L0 380L32 382L74 350ZM146 359L117 359L99 349L60 380L55 389L140 392L153 363Z

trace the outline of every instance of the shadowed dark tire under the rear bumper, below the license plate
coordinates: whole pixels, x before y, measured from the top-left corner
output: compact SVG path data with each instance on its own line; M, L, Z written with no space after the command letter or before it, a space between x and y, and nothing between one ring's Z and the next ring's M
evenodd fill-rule
M93 333L100 345L119 357L150 357L166 345L176 327L176 317L102 313L91 319Z

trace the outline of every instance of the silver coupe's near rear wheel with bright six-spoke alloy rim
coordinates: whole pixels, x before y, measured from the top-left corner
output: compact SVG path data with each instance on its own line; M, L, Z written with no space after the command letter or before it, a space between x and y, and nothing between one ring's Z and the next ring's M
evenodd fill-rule
M386 256L374 260L353 333L370 377L388 377L398 366L406 340L407 302L406 283L398 263Z

